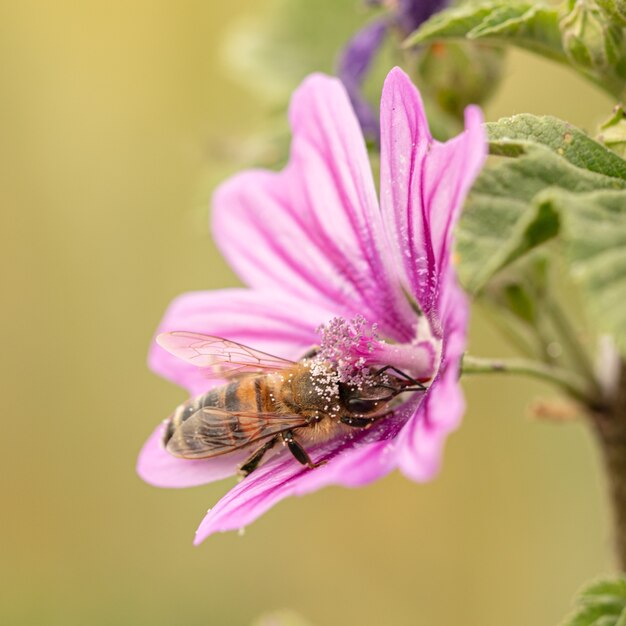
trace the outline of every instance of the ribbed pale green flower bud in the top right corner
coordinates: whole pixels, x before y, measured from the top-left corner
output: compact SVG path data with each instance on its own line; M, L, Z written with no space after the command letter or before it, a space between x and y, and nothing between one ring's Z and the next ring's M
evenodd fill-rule
M610 72L623 59L623 29L595 0L570 0L570 7L560 23L565 53L582 69Z

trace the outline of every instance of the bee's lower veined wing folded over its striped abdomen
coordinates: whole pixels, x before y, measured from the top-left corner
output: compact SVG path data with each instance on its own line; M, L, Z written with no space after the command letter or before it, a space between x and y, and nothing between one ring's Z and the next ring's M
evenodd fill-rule
M170 454L183 459L210 459L306 424L306 419L296 414L204 407L174 431L166 448Z

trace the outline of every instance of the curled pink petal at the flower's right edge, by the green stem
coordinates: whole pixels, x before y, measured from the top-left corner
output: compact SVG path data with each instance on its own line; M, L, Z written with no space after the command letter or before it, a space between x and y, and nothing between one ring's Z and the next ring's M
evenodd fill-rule
M448 273L439 373L396 440L398 467L416 481L430 480L437 473L445 439L457 428L465 411L459 368L465 350L469 310L465 294L454 281L454 276Z

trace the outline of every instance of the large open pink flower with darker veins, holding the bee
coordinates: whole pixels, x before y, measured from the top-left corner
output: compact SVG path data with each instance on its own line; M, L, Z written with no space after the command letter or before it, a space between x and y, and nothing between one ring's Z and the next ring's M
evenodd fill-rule
M320 467L289 453L272 457L209 511L196 543L325 485L359 487L396 468L429 480L464 410L458 377L468 305L451 262L452 231L486 155L480 110L468 108L461 135L436 142L418 91L393 69L381 99L380 204L337 79L308 77L293 95L290 119L285 169L244 172L214 197L215 239L250 288L184 294L159 332L217 335L294 360L321 341L337 367L395 365L429 381L428 390L407 394L369 429L309 447L314 461L327 461ZM156 344L150 365L192 395L216 384ZM178 459L163 448L162 430L138 462L140 476L157 486L230 476L245 456Z

